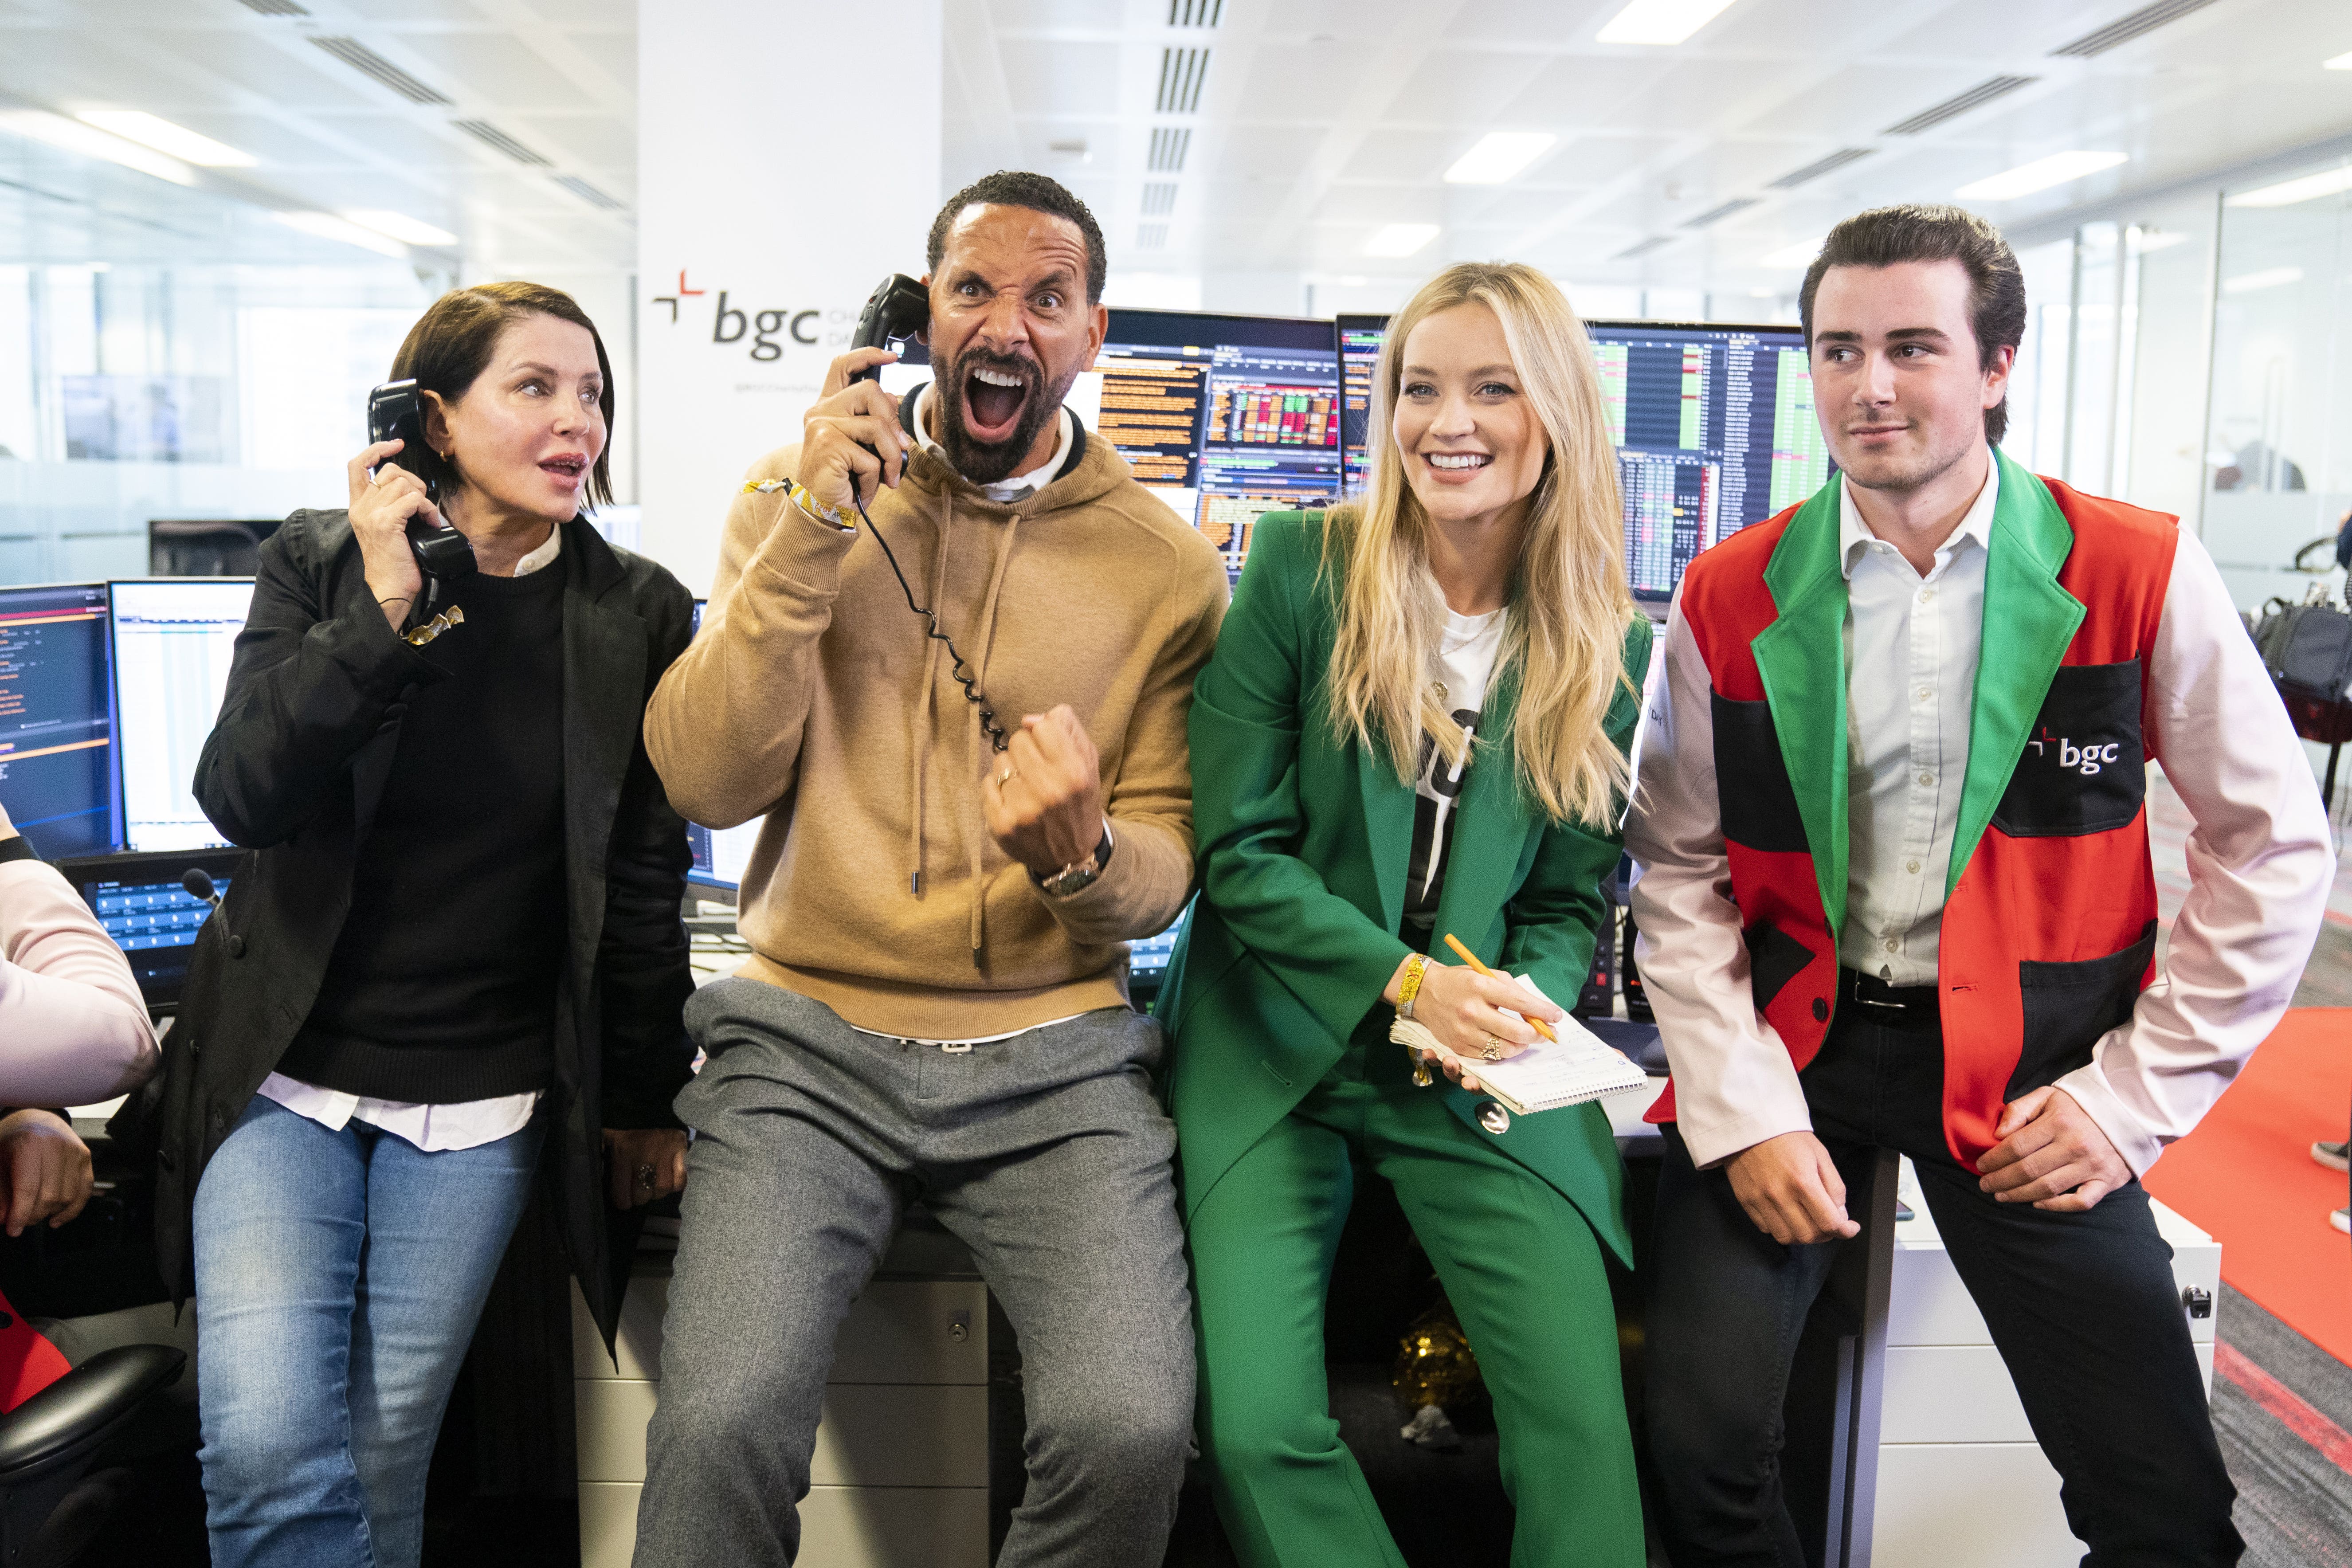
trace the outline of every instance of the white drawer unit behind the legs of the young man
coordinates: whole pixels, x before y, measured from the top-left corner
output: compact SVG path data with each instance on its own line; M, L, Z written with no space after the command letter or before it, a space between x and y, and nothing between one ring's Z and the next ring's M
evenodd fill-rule
M1910 1161L1900 1192L1917 1218L1896 1225L1870 1561L1875 1568L2072 1563L2082 1542L2058 1507L2058 1472L2025 1425L2018 1389L1952 1269ZM2211 1392L2220 1244L2164 1204L2154 1211L2173 1246L2173 1279Z

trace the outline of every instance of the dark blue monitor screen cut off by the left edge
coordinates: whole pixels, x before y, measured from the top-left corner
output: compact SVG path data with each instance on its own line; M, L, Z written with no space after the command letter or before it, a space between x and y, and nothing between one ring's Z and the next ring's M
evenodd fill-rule
M106 585L0 588L0 806L42 860L115 846Z

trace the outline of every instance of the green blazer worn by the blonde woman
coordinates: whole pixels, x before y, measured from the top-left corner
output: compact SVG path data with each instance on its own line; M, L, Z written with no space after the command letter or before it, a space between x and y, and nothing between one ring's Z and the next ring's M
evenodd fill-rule
M1308 512L1258 520L1216 654L1192 689L1202 896L1157 1006L1176 1039L1169 1100L1188 1218L1350 1041L1402 1051L1388 1044L1381 992L1414 952L1397 936L1414 788L1385 757L1331 738L1327 670L1338 616L1329 585L1317 583L1319 529ZM1649 637L1649 621L1625 630L1632 691L1609 710L1618 750L1639 717ZM1437 931L1566 1004L1592 969L1599 882L1616 872L1621 835L1545 823L1522 797L1515 698L1508 677L1486 693ZM1515 1117L1496 1135L1477 1121L1484 1095L1442 1081L1428 1093L1444 1093L1468 1128L1496 1138L1632 1260L1623 1166L1599 1105Z

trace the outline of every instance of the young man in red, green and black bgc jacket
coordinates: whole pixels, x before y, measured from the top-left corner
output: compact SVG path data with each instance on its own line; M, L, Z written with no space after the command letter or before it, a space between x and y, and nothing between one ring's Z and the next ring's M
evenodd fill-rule
M1691 562L1625 832L1675 1067L1646 1356L1672 1561L1804 1561L1780 1401L1891 1147L2084 1563L2234 1563L2138 1178L2293 994L2319 792L2197 538L1999 456L2025 284L1990 223L1846 219L1802 317L1842 473ZM2147 759L2197 818L2161 978Z

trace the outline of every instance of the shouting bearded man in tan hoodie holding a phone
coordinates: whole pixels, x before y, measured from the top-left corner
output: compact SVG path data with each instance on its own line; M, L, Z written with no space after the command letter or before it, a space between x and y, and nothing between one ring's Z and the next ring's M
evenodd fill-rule
M793 1561L833 1335L908 1201L1021 1338L1002 1568L1157 1563L1183 1479L1176 1135L1124 943L1190 893L1185 710L1225 574L1061 407L1108 320L1087 207L993 174L929 266L936 381L901 404L849 381L891 355L835 360L647 710L682 813L767 820L753 957L687 1009L710 1060L677 1098L642 1568Z

